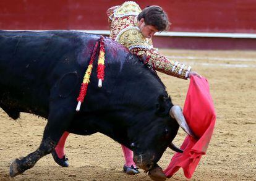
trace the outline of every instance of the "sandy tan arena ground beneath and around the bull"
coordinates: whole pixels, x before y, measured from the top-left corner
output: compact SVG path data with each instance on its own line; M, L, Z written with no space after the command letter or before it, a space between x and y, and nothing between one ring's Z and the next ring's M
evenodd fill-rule
M207 155L191 180L256 180L256 53L253 51L182 51L161 53L192 65L208 78L217 120ZM173 102L183 106L189 81L160 74ZM40 144L46 120L21 114L18 121L0 110L0 180L150 180L122 172L121 146L96 133L87 137L70 135L66 144L69 168L59 167L51 155L15 179L9 178L10 162L26 156ZM179 130L174 143L186 137ZM165 168L173 156L168 149L159 164ZM186 180L179 170L169 180Z

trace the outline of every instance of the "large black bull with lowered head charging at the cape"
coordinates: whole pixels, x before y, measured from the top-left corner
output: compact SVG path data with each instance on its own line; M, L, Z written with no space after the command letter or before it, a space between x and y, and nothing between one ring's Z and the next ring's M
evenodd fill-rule
M39 148L12 162L12 177L51 153L64 131L103 133L132 149L137 166L145 170L156 166L176 137L179 125L168 114L173 104L160 78L108 38L103 87L98 88L95 68L81 109L75 111L99 38L69 31L0 32L1 108L13 119L20 112L48 119Z

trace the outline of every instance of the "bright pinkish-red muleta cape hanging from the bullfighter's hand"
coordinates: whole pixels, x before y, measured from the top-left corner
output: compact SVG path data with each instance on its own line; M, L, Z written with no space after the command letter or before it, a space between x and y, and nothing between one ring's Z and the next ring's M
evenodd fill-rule
M187 135L181 145L184 153L174 154L169 166L164 170L168 178L182 167L184 175L190 179L202 155L206 154L216 121L207 79L196 76L190 78L183 113L198 139Z

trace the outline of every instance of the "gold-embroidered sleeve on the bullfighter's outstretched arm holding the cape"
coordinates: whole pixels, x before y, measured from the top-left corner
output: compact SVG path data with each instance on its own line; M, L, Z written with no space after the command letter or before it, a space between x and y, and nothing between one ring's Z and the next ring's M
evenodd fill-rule
M130 51L137 56L146 56L147 63L150 64L153 69L163 72L164 74L172 75L174 77L187 79L191 67L185 64L181 64L177 61L169 60L164 57L154 48L143 49L143 48L133 48Z

